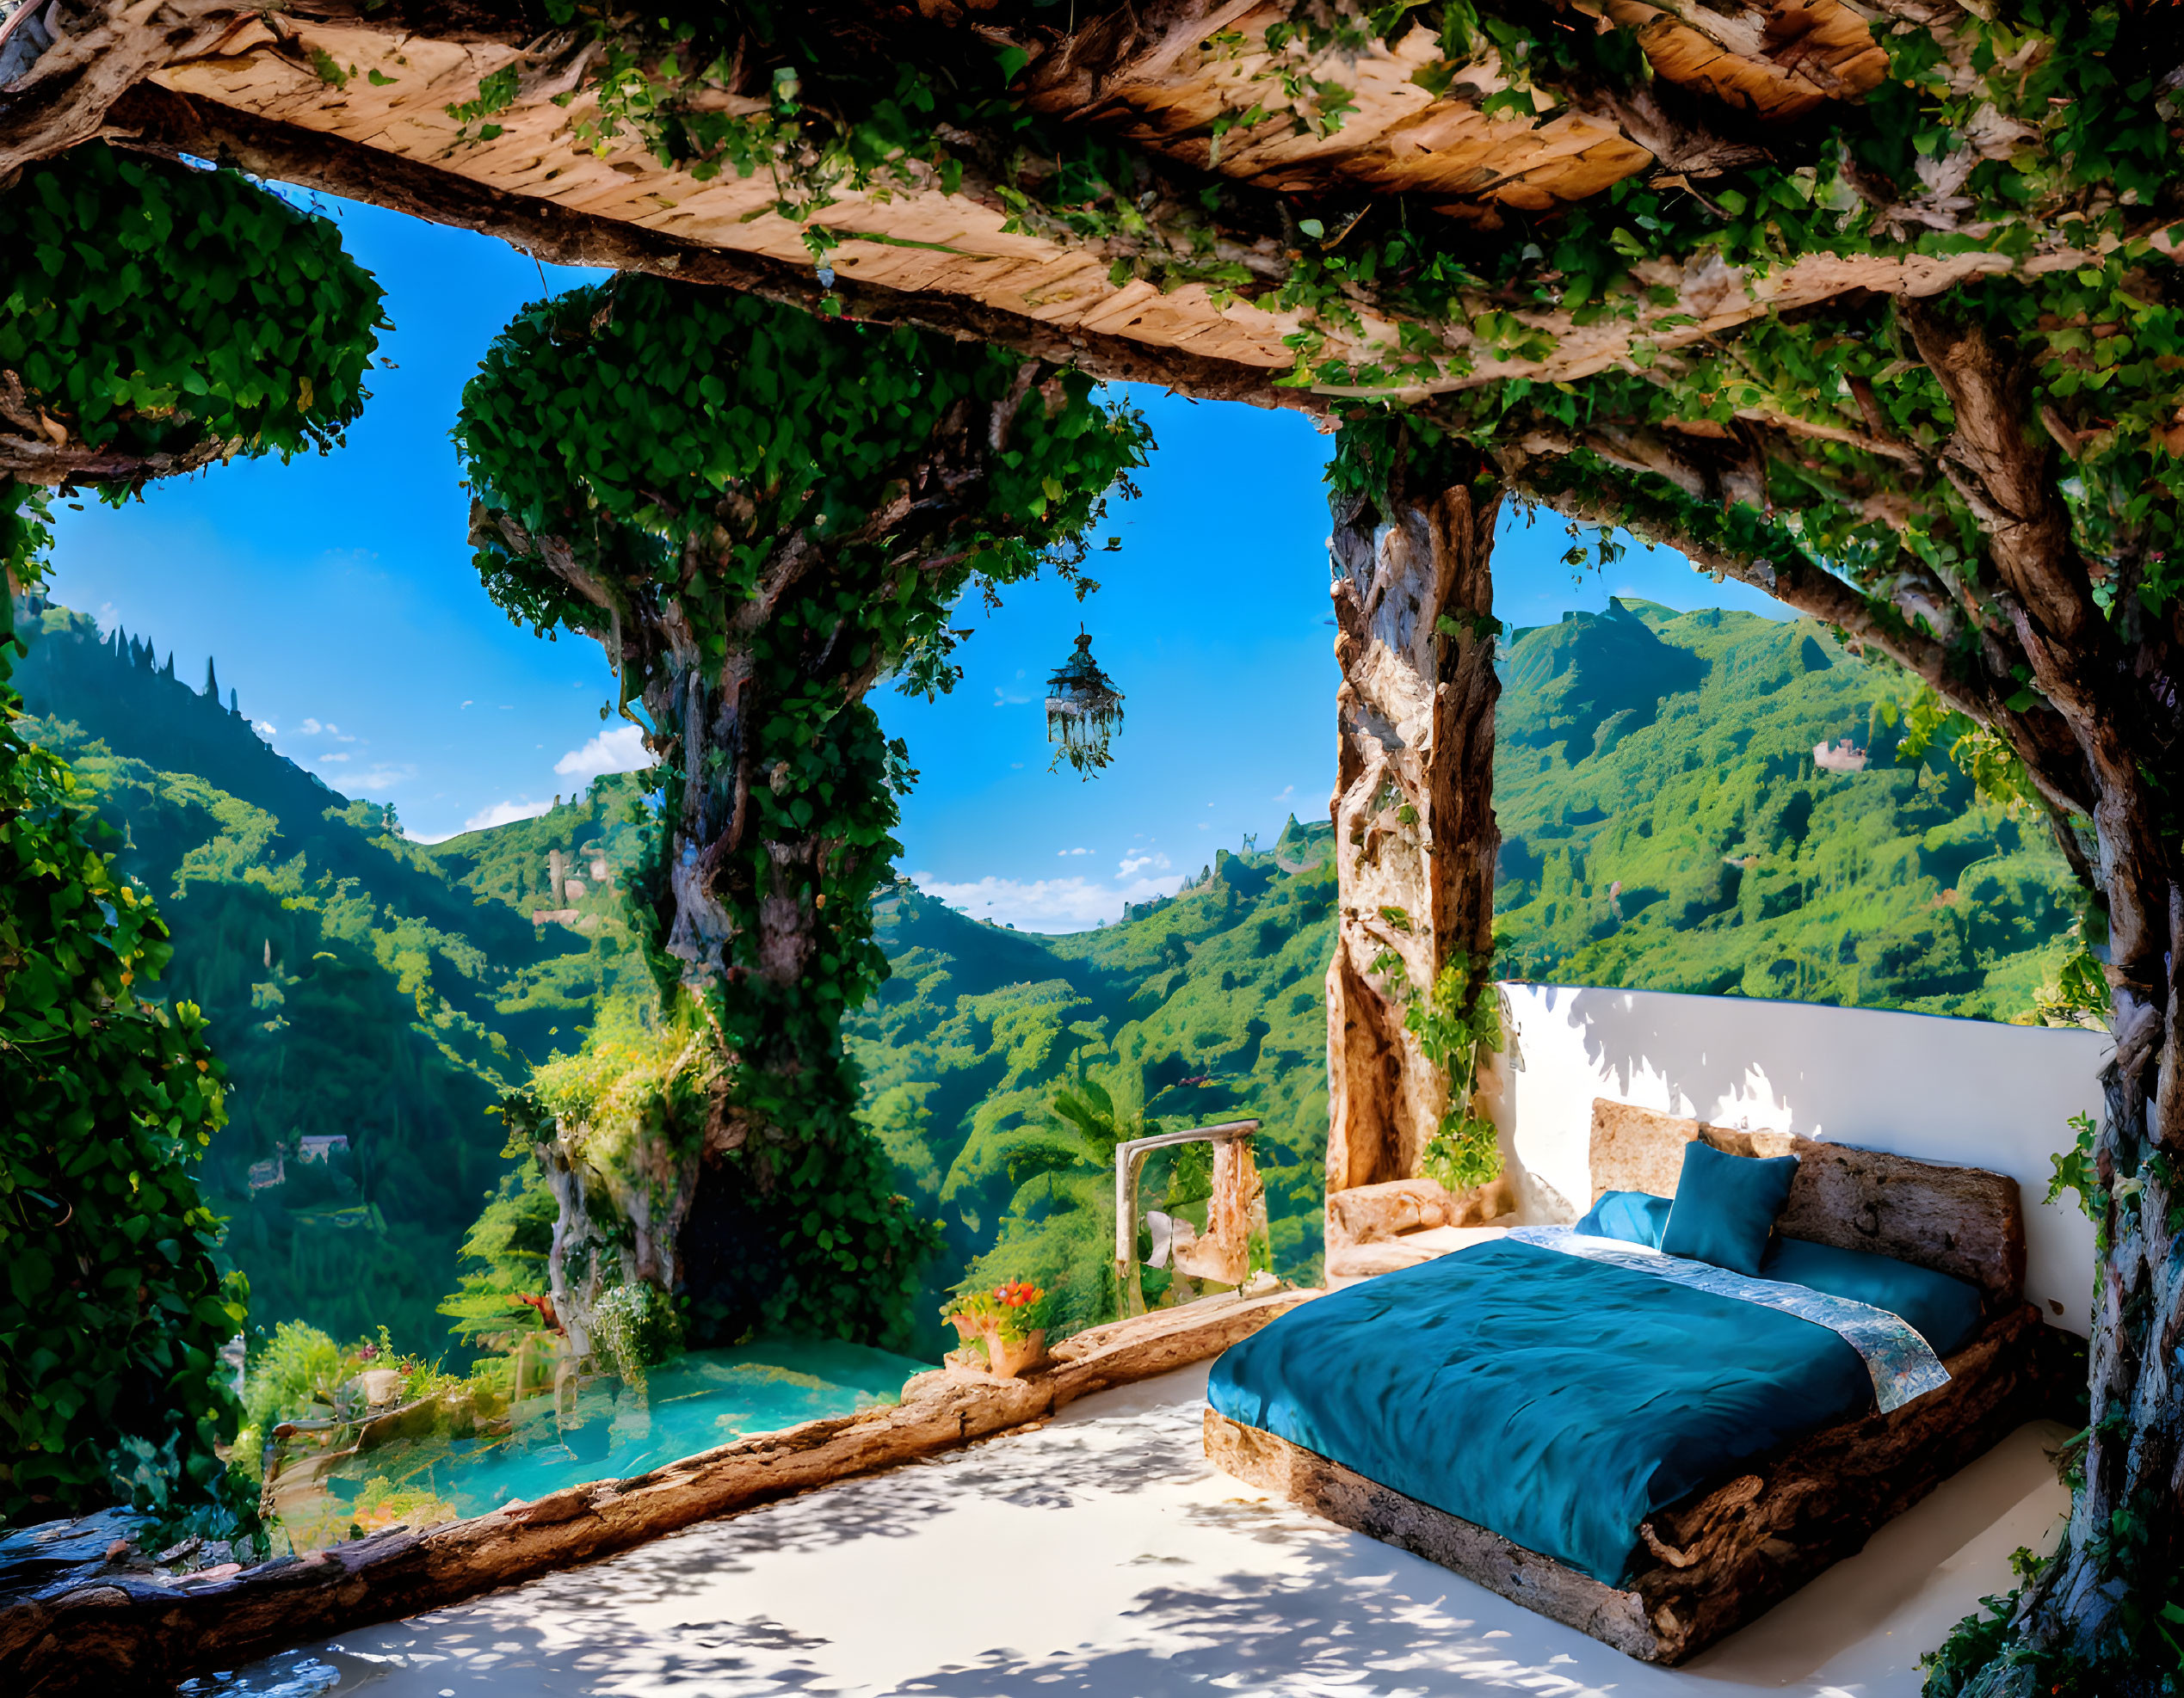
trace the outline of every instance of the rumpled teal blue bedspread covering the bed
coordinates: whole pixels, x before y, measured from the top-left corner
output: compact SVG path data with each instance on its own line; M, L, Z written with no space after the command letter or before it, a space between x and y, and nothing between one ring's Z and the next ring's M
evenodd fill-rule
M1206 1397L1621 1585L1653 1510L1856 1414L1874 1386L1811 1320L1498 1242L1284 1314L1214 1364Z

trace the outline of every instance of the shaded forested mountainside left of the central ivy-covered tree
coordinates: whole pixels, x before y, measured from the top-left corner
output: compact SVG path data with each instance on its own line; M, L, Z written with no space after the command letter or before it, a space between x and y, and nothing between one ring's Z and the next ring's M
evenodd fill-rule
M487 1109L574 1043L622 932L612 895L583 904L592 932L533 925L496 901L500 862L535 851L539 886L555 845L633 862L625 790L502 827L496 856L476 836L419 847L389 808L273 753L210 679L192 690L68 609L20 629L26 731L74 766L120 869L159 901L175 958L153 989L205 1008L227 1067L201 1172L253 1325L384 1323L437 1349L463 1231L507 1168ZM328 1135L347 1152L297 1159Z

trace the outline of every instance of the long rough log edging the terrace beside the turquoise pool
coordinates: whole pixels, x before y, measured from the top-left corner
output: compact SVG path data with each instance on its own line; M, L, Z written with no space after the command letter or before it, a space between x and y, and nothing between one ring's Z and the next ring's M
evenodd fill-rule
M1079 1397L1203 1362L1319 1292L1219 1296L1077 1334L1022 1379L928 1373L902 1403L566 1486L435 1528L391 1528L216 1580L96 1565L0 1606L0 1691L144 1691L288 1646L592 1563L697 1521L961 1449Z

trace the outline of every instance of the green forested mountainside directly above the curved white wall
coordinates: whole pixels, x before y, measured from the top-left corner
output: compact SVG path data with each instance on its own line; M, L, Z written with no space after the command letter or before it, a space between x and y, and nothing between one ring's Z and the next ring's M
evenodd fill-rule
M1874 707L1898 687L1811 620L1612 602L1514 633L1503 976L2025 1015L2070 871L1944 751L1896 762ZM1843 740L1865 770L1815 764Z

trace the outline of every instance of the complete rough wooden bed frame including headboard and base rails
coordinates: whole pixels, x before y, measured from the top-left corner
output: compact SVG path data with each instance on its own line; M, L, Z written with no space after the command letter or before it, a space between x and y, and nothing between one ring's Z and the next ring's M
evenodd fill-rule
M1787 1237L1876 1251L1955 1275L1985 1294L1985 1320L1948 1358L1950 1384L1894 1414L1867 1412L1747 1458L1634 1530L1651 1552L1607 1587L1487 1528L1389 1491L1317 1451L1206 1412L1206 1456L1225 1473L1415 1552L1524 1609L1647 1663L1682 1663L1734 1633L1876 1528L2062 1403L2070 1340L2025 1303L2018 1185L1979 1168L1939 1168L1778 1133L1592 1107L1592 1185L1673 1196L1684 1144L1734 1155L1797 1155L1782 1209Z

